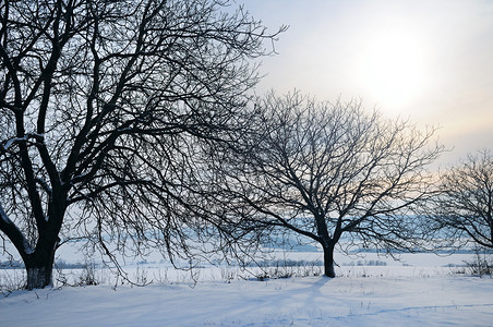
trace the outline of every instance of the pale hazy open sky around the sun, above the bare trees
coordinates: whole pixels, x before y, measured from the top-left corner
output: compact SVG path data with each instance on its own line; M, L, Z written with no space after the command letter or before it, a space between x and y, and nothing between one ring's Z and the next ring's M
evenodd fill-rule
M454 165L493 149L493 0L236 0L268 31L261 92L362 99L438 128Z

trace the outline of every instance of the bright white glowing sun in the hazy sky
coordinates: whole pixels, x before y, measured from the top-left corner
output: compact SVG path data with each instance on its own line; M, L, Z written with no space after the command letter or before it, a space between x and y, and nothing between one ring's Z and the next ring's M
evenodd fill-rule
M419 97L426 83L424 51L411 34L390 31L369 38L359 56L365 93L390 111Z

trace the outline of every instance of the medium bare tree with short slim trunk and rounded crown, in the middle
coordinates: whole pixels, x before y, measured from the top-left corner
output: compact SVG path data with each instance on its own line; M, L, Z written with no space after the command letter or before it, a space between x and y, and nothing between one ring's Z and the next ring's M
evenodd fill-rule
M426 166L443 150L433 130L385 120L358 101L297 93L270 94L256 113L243 155L223 161L221 194L246 230L289 230L318 242L328 277L339 241L346 250L419 246L424 230L416 214L432 195Z

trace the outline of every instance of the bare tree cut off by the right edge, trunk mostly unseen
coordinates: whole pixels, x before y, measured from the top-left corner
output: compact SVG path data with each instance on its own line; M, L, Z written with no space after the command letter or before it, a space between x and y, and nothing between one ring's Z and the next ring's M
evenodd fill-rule
M493 249L493 156L468 155L441 177L441 193L432 208L435 228L448 240Z

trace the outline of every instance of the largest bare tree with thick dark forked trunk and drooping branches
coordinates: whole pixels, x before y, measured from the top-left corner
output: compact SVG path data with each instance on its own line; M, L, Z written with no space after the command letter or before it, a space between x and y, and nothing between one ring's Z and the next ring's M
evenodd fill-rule
M0 237L27 288L70 238L181 254L200 144L231 140L285 27L221 0L4 0L0 20Z

